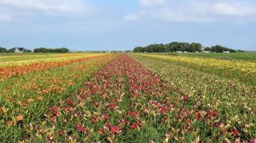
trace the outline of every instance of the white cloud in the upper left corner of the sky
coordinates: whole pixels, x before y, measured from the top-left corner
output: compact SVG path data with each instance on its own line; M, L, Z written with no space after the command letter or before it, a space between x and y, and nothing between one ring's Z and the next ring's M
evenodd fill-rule
M0 20L19 20L36 14L81 17L95 10L83 0L0 0Z

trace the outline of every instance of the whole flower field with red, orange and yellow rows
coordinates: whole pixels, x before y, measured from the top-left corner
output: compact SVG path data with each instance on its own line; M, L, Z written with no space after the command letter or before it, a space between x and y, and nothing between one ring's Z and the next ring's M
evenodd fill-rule
M253 55L0 55L0 141L255 141Z

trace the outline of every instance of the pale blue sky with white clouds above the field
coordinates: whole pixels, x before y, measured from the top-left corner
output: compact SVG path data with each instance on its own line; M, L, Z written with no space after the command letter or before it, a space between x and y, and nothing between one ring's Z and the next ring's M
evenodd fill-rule
M0 46L124 50L199 42L256 50L255 0L0 0Z

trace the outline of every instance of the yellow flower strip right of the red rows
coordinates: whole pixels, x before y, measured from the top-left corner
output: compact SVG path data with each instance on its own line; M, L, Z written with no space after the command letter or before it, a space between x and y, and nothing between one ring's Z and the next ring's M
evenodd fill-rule
M240 79L255 85L256 62L246 60L218 60L212 58L183 57L162 54L139 54L151 58L170 60L177 65L188 66L198 71L213 73L222 77Z

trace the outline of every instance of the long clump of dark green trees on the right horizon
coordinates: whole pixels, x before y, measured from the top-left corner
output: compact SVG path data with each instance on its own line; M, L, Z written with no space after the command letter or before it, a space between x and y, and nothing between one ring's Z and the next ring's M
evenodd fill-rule
M201 43L167 43L167 44L150 44L146 47L136 47L133 52L147 52L147 53L165 53L165 52L177 52L177 51L187 51L187 52L201 52L201 51L211 51L216 53L223 53L224 51L236 52L235 49L229 49L220 45L207 47L204 49ZM241 50L240 50L241 51Z

